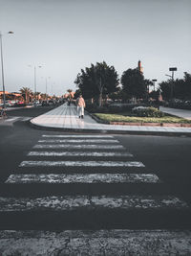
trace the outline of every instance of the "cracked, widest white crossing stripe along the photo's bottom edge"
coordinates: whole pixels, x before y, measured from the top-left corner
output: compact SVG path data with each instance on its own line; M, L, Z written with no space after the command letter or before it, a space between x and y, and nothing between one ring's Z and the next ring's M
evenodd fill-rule
M189 230L5 230L2 255L191 255Z

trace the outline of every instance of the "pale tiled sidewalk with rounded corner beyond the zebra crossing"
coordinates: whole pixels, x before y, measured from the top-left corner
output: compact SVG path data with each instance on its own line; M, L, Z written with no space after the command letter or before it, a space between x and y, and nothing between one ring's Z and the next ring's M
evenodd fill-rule
M36 128L65 131L191 136L191 128L103 125L96 123L88 113L84 119L79 119L76 106L66 104L33 118L31 124Z

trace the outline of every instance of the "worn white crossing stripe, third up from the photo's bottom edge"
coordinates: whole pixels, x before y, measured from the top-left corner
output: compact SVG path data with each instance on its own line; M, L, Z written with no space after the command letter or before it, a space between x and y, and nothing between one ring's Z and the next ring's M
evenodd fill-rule
M159 183L153 174L10 175L6 183Z

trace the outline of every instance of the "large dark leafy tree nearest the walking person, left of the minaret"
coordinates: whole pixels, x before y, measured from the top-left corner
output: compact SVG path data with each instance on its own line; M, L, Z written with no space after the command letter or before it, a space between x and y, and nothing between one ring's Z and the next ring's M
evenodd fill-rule
M74 83L78 86L85 99L98 98L99 106L102 98L118 90L118 75L114 66L108 66L105 61L91 64L91 67L81 69Z

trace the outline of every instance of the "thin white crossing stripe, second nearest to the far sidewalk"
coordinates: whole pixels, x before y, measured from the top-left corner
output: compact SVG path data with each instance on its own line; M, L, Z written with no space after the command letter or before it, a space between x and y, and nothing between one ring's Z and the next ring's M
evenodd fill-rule
M47 140L39 140L38 143L119 143L117 140L103 140L103 139L47 139Z

